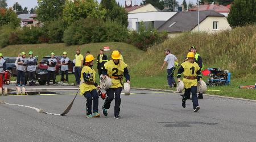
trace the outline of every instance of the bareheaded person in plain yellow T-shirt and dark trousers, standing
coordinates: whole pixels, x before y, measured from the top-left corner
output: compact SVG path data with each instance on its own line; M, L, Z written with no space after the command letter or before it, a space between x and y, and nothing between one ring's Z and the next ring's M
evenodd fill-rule
M80 54L80 49L76 50L76 63L75 63L75 77L76 77L76 84L80 84L80 76L81 76L81 69L82 64L84 62L84 56Z

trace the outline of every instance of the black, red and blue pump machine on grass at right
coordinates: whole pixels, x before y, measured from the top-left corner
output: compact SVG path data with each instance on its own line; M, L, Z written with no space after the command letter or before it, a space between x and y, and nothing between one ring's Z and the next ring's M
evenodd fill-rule
M221 70L217 68L208 68L210 71L207 85L209 86L220 86L220 85L229 85L231 73L229 70Z

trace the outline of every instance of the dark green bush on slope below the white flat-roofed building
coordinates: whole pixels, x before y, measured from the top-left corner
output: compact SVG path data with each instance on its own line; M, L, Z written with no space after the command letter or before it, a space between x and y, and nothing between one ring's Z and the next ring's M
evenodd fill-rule
M131 31L130 38L127 41L139 49L146 51L148 47L162 43L167 39L167 32L158 32L155 28L144 26L143 23L139 26L139 31Z

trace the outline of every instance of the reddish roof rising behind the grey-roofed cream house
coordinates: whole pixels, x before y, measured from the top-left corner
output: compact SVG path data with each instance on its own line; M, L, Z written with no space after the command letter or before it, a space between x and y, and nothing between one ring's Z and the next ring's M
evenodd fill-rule
M198 6L194 6L188 11L197 11L197 10L198 10ZM214 10L216 12L229 12L229 8L224 5L200 5L199 10L200 11Z

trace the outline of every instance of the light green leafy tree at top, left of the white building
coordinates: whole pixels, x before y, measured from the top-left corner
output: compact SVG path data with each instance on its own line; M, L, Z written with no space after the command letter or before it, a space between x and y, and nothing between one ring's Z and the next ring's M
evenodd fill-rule
M81 18L104 18L105 9L100 9L96 0L74 0L66 1L63 18L68 24Z

